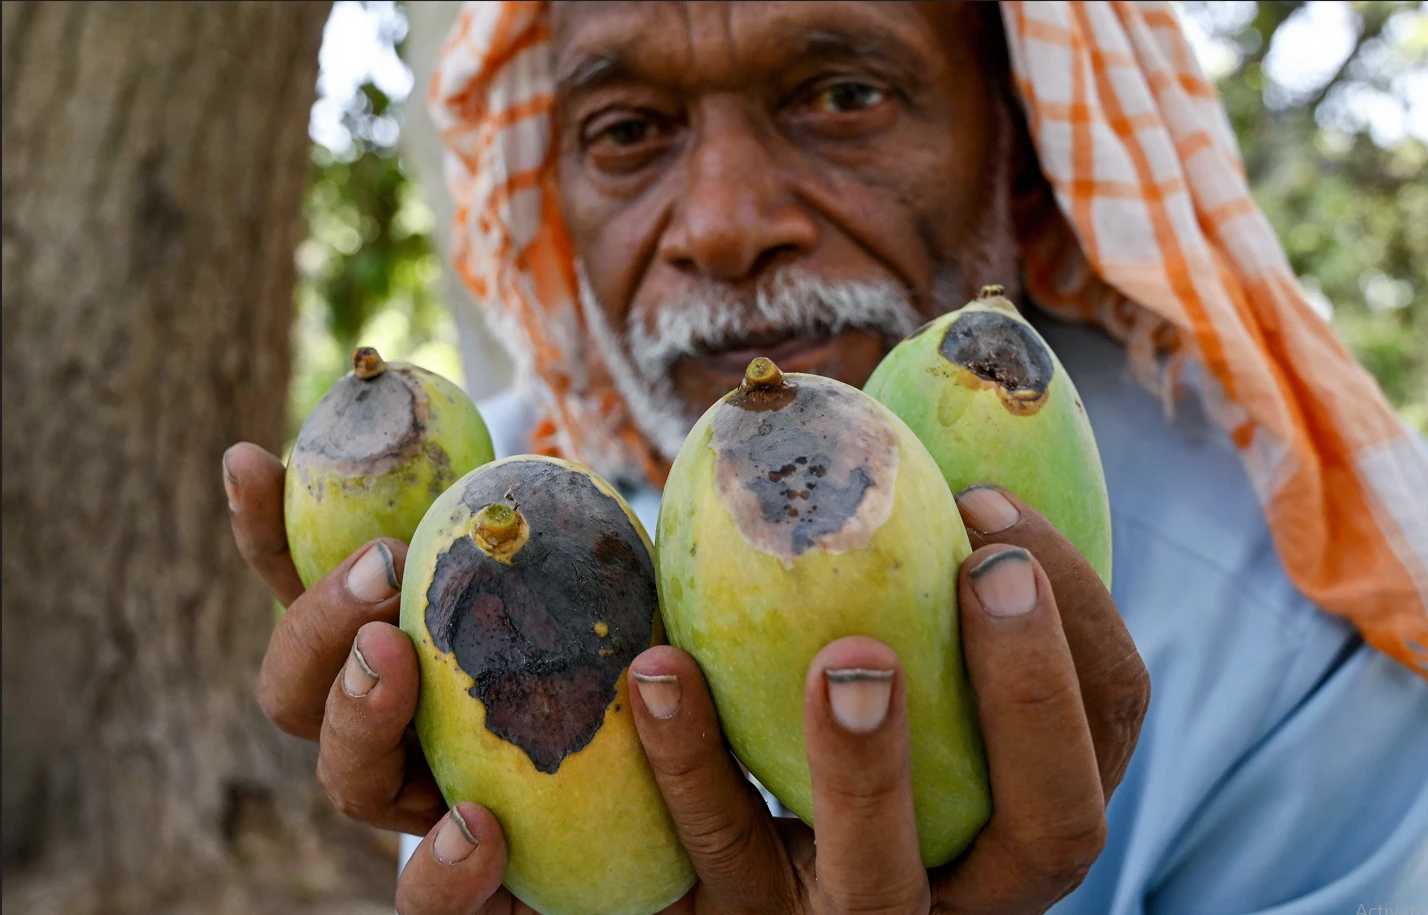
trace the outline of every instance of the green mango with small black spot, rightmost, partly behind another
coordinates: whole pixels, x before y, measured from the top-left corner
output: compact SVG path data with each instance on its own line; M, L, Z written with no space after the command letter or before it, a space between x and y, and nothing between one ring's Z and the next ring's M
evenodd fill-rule
M1085 407L1061 360L1001 293L984 287L910 334L863 390L907 423L952 492L1005 488L1111 587L1111 504Z

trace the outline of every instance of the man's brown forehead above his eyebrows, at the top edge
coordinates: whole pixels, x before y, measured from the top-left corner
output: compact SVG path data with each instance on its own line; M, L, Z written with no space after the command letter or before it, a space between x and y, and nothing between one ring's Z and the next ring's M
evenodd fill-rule
M644 60L688 66L698 49L740 57L758 46L795 49L810 41L865 47L907 47L914 53L945 50L940 40L950 16L941 3L573 3L551 4L555 71L561 83L611 61ZM944 9L937 9L944 7ZM753 53L753 54L751 54Z

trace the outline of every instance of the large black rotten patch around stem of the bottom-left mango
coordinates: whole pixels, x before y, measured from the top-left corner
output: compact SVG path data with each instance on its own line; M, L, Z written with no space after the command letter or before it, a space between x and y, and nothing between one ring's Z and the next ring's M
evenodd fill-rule
M433 644L451 652L486 705L486 727L541 772L600 729L617 682L650 645L654 564L620 504L594 481L544 461L473 478L473 514L504 502L527 541L507 561L471 537L440 554L427 590Z

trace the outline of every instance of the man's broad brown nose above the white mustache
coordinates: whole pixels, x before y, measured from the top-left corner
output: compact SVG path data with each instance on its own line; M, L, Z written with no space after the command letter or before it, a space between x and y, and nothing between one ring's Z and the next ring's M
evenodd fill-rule
M684 193L660 241L665 263L724 283L797 260L818 240L770 150L733 120L707 124L685 153Z

